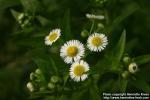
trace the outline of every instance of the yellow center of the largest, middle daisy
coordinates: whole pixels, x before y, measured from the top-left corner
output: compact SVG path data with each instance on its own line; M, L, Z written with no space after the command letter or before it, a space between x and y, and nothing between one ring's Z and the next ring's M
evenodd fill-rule
M76 56L78 53L78 48L75 47L75 46L70 46L68 47L67 49L67 55L70 56L70 57L74 57Z

